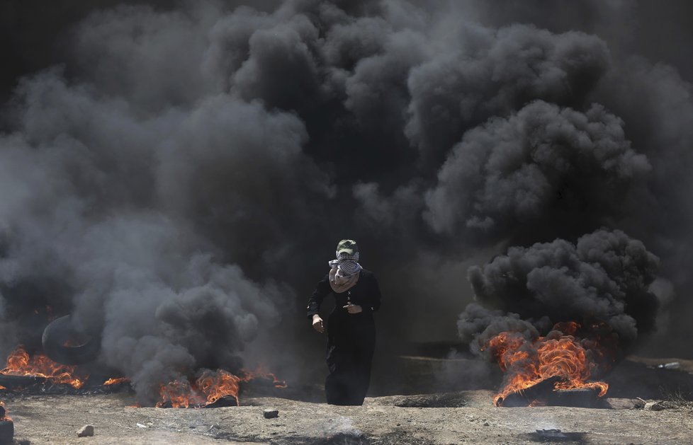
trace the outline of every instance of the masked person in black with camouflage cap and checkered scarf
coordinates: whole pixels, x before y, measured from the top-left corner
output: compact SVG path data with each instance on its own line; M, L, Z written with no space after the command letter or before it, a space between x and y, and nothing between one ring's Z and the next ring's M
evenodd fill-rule
M339 241L336 256L308 300L308 318L323 333L320 305L326 296L334 295L334 311L327 317L327 403L363 405L376 345L373 312L381 306L381 291L373 272L359 264L356 241Z

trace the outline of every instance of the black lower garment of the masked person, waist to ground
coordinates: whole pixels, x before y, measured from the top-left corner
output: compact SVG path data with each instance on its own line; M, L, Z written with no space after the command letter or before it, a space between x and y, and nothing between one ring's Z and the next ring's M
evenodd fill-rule
M325 395L330 405L363 405L371 383L376 325L370 313L336 309L327 318Z

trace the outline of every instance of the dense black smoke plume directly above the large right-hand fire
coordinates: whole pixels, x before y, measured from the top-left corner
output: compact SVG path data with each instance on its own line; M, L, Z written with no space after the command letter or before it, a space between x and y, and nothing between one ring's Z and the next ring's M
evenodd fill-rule
M509 248L507 255L469 269L479 304L461 314L458 330L479 352L504 331L530 340L556 323L606 323L627 350L655 325L658 300L650 284L658 267L643 243L621 231L595 231L577 244L558 239Z

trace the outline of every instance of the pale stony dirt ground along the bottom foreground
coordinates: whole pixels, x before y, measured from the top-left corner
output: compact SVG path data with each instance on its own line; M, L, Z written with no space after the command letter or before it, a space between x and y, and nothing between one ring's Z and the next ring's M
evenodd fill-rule
M645 362L631 361L612 376L614 396L601 408L496 408L488 389L383 395L366 398L362 407L295 397L305 391L251 394L241 398L242 406L212 409L128 408L134 403L129 392L3 397L16 443L23 444L693 443L693 403L682 398L690 395L692 374ZM319 393L319 386L312 391ZM666 398L663 410L643 408L644 401ZM265 419L267 408L278 417ZM77 437L85 424L94 426L94 437Z

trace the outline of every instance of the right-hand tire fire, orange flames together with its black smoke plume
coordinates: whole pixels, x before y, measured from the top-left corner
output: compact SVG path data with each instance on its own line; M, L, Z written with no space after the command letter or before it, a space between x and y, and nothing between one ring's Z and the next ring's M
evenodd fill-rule
M606 394L607 383L595 378L653 329L657 300L648 287L657 267L640 241L605 230L577 245L556 240L510 248L472 267L478 301L497 309L471 304L458 328L473 352L505 371L494 403L549 380L554 391Z

